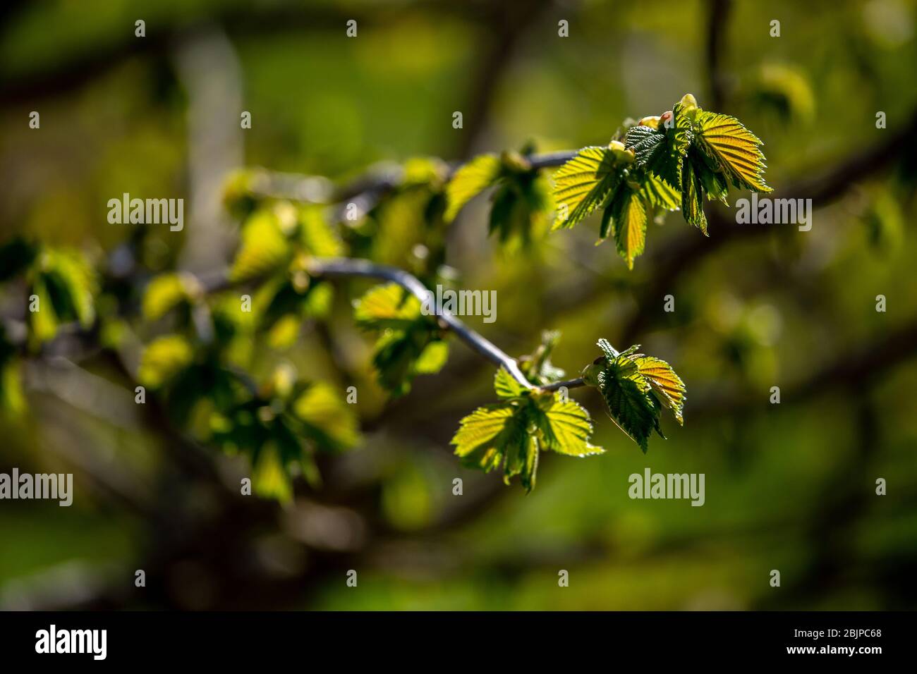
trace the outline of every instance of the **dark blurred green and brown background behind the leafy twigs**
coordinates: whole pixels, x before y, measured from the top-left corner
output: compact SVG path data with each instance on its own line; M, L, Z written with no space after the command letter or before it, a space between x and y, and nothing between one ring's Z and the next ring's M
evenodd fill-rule
M492 366L456 342L442 373L387 400L348 293L253 365L258 377L285 359L360 391L359 447L323 460L324 487L297 482L286 507L238 497L244 461L139 410L103 359L46 349L23 367L28 412L0 420L0 470L73 472L76 498L0 503L0 607L917 605L917 3L62 0L7 2L0 17L0 240L104 260L128 231L106 222L109 198L182 196L182 233L152 228L143 264L204 273L236 247L228 171L343 184L418 156L605 144L688 92L764 140L775 195L816 207L800 232L708 206L710 238L669 215L629 272L613 244L592 245L594 222L510 254L486 238L486 199L470 204L446 262L499 300L497 322L472 327L514 355L561 330L554 361L571 376L598 337L640 343L688 386L684 427L666 425L646 457L597 396L572 392L608 452L544 456L527 496L459 468L448 446L491 400ZM397 245L413 250L411 236ZM646 466L705 473L706 503L630 500Z

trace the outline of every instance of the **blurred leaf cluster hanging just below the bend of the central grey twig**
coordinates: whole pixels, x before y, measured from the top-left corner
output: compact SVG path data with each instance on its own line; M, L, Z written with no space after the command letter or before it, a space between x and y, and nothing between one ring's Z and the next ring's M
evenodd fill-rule
M393 395L411 390L418 374L436 374L448 359L445 334L433 313L396 283L377 285L354 303L354 320L380 333L372 365L380 385Z

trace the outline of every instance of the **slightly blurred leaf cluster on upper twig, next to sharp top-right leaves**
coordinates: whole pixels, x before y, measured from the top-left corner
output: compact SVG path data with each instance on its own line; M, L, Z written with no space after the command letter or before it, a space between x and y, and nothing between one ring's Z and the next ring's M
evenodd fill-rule
M522 152L503 152L500 156L482 154L458 168L446 188L446 222L454 220L475 196L495 187L489 233L502 244L515 240L529 247L545 229L553 208L547 179L527 159L532 151L529 146Z

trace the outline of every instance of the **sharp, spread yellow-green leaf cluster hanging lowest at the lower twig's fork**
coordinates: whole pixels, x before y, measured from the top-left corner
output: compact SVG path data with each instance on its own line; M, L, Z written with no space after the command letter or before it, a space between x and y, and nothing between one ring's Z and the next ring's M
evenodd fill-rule
M560 392L525 388L503 368L497 370L493 390L500 401L462 419L452 438L464 465L486 472L502 465L506 484L519 476L525 491L531 492L542 449L569 457L604 451L589 441L589 413Z

